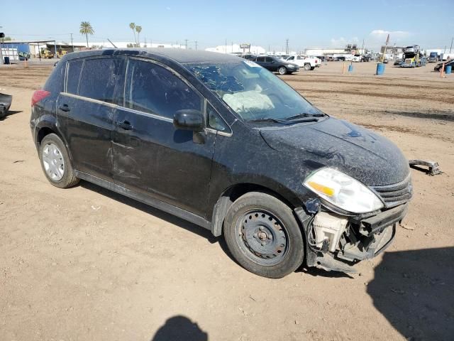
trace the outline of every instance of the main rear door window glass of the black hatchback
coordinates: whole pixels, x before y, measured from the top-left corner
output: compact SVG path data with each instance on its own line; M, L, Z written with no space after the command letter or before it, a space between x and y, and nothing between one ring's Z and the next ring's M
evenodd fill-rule
M80 77L79 96L114 103L114 90L120 58L98 58L85 60Z

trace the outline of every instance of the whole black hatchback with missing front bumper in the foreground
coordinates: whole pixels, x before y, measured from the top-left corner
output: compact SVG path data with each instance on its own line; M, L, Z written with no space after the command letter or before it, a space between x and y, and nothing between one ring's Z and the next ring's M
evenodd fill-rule
M189 220L270 278L353 271L389 246L411 198L394 144L231 55L65 55L33 94L31 131L52 185L87 180Z

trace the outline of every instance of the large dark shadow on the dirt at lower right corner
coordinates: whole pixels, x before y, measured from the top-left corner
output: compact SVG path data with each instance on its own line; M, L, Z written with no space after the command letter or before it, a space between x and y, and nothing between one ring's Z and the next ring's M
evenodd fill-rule
M453 259L454 247L386 252L367 293L407 339L453 340Z

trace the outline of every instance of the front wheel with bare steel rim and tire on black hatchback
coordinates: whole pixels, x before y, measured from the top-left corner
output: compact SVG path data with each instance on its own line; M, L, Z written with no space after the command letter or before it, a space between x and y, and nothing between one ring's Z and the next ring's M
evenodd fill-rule
M223 232L236 261L258 276L282 278L304 260L304 241L292 209L272 195L239 197L227 212Z

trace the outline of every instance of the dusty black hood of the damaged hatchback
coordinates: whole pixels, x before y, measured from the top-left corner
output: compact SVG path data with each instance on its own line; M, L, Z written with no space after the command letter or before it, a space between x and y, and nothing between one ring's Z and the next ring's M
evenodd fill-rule
M341 119L267 127L260 134L271 148L304 163L307 171L329 166L370 186L399 183L409 175L409 163L396 145Z

